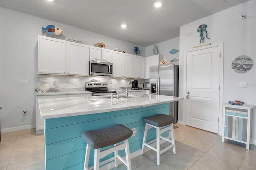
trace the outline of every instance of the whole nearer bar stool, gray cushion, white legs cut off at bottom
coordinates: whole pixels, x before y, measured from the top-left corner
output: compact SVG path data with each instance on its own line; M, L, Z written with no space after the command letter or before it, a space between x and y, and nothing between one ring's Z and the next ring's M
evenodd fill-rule
M88 161L90 156L91 148L94 149L94 170L99 170L100 165L106 164L112 160L114 160L115 168L118 167L116 162L116 158L118 158L121 162L123 162L128 170L132 170L131 168L131 160L130 160L130 150L129 150L129 142L128 138L132 136L132 130L123 125L116 124L107 128L102 128L98 130L90 130L84 131L82 133L82 137L84 138L86 145L86 152L84 158L84 170L92 169L92 167L88 168ZM124 141L122 144L118 144L119 142ZM114 145L111 148L100 151L100 148L104 148L106 146ZM126 161L118 154L118 150L125 149ZM114 157L108 160L100 162L100 159L107 156L108 154L114 152Z

